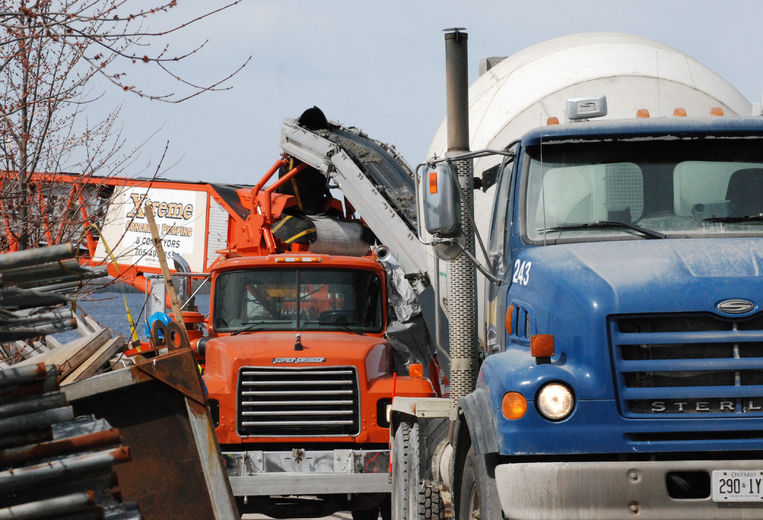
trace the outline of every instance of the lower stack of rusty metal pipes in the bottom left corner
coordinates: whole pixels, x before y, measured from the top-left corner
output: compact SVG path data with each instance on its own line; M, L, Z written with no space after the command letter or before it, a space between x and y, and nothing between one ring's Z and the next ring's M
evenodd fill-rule
M74 417L43 364L0 371L0 520L140 519L113 466L129 460L119 430Z

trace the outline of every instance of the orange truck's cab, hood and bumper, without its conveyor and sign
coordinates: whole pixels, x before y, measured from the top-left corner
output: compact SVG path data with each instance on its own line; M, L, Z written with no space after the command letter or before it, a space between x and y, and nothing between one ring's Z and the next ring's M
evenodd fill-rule
M196 348L241 513L390 518L392 398L436 393L421 364L395 371L387 272L325 185L285 157L244 198Z

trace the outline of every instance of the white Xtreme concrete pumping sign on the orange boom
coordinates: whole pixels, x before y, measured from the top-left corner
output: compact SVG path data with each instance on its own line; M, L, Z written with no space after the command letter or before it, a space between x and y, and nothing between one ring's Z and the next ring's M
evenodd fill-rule
M203 272L207 193L203 191L125 187L115 195L102 230L102 237L120 264L159 267L156 249L145 215L151 202L154 219L170 269L182 257L191 271ZM98 242L96 260L110 260L103 240Z

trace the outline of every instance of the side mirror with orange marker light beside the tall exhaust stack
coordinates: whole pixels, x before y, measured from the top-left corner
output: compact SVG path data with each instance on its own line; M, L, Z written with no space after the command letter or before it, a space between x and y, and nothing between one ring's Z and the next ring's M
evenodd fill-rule
M431 235L452 237L461 232L461 207L453 169L440 163L422 177L424 226Z

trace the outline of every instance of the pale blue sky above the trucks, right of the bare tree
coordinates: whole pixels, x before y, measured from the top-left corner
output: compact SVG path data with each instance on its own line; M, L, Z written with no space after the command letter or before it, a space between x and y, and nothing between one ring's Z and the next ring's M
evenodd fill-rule
M222 2L179 0L152 28L193 18ZM444 117L442 29L466 27L471 81L479 59L510 55L578 32L637 34L665 43L726 78L750 101L763 94L763 2L707 0L244 0L174 35L180 52L209 39L175 70L192 81L219 79L247 57L226 92L164 104L108 90L124 103L124 136L144 146L134 175L152 172L169 141L167 178L254 184L279 155L280 124L313 105L331 120L393 144L410 163L425 159ZM134 70L130 70L133 68ZM174 83L126 72L141 86ZM178 90L180 92L180 90Z

